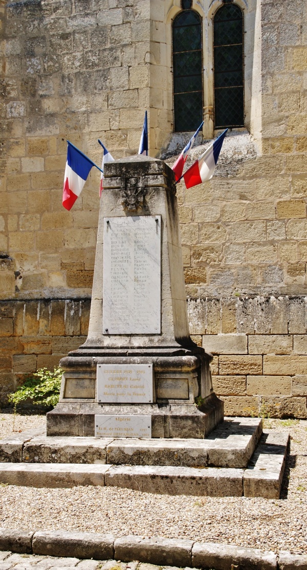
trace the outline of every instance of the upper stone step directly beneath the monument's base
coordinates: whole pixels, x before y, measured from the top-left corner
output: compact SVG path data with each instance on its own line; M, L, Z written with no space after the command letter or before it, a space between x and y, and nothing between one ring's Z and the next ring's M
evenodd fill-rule
M0 459L27 463L247 467L262 434L260 418L228 418L206 439L27 437L0 441ZM22 434L20 434L21 436Z

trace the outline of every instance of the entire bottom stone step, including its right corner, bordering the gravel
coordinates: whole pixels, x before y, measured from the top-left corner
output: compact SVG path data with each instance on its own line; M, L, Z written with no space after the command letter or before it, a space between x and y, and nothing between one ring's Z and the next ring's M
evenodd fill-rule
M263 496L278 499L288 433L265 433L248 469L101 463L0 463L0 483L31 487L112 486L194 496Z

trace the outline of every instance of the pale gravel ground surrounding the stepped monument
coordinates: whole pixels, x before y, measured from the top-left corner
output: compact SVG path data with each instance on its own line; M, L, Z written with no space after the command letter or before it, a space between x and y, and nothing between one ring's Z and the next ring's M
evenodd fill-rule
M6 429L7 416L4 421L2 417L0 425ZM42 417L18 416L15 426L28 429L29 420L34 427ZM280 500L153 495L116 487L2 485L0 525L188 538L307 553L307 421L265 420L264 427L291 434Z

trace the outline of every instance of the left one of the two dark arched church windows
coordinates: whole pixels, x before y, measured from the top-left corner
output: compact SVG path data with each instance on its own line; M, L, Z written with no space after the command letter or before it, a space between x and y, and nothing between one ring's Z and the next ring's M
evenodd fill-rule
M203 79L202 21L194 10L173 22L173 82L174 131L195 131L203 120Z

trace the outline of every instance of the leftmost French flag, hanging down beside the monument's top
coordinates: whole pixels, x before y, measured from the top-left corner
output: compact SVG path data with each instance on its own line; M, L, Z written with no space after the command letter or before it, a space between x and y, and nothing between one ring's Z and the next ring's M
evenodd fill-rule
M80 196L92 166L96 165L81 150L67 141L67 161L62 200L66 210L71 210L77 197Z

